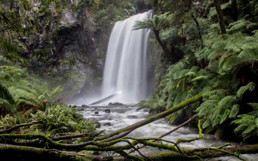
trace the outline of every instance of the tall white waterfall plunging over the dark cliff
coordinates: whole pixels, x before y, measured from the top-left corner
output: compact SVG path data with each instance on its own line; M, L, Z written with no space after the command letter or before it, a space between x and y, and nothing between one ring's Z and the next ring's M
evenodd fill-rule
M151 18L152 11L116 22L108 42L102 82L102 98L118 92L114 101L135 103L146 100L148 92L149 29L132 31L137 20Z

